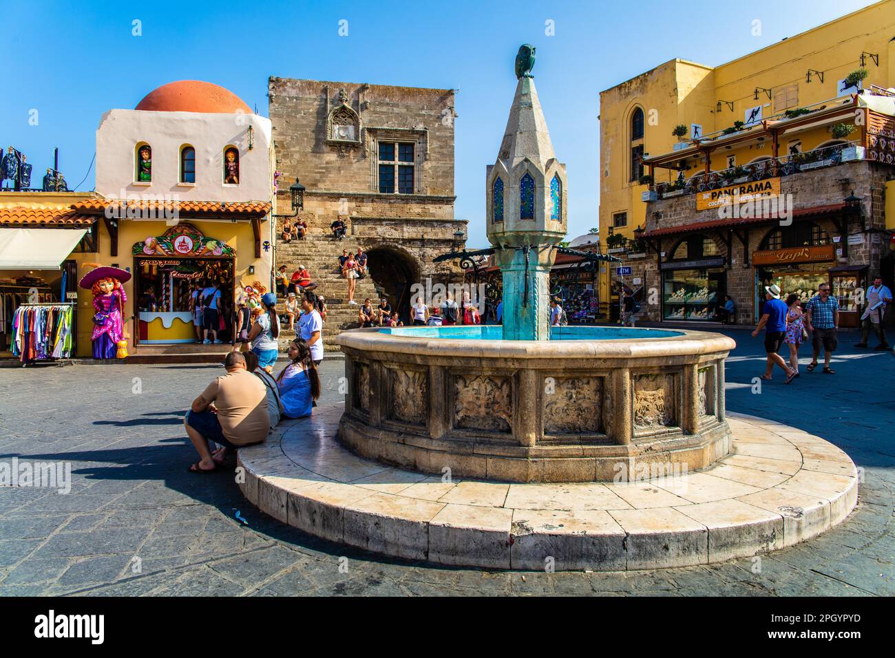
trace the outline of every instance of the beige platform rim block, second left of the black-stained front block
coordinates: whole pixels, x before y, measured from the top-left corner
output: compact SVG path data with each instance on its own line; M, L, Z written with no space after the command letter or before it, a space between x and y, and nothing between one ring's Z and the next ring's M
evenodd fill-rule
M429 521L441 503L373 493L345 505L343 541L368 551L408 560L426 560Z

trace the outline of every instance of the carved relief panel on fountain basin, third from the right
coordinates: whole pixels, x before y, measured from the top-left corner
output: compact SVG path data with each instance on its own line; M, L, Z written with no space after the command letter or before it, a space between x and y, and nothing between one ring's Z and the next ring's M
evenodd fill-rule
M601 377L550 377L543 390L544 432L605 432Z

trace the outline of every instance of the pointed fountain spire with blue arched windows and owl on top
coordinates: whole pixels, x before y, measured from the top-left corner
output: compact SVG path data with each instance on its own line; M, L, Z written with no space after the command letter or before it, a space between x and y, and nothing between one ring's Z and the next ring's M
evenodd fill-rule
M556 158L531 74L535 48L516 55L516 95L486 175L488 239L503 274L504 338L550 338L553 246L566 236L566 166Z

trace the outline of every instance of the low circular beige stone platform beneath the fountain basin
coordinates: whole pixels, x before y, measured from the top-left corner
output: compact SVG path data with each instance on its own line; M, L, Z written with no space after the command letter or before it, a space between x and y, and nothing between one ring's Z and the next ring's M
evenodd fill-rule
M812 434L729 414L729 456L631 483L449 480L384 466L335 439L344 405L239 451L243 494L307 533L446 565L598 571L686 567L775 551L840 523L857 469ZM445 481L447 479L447 481Z

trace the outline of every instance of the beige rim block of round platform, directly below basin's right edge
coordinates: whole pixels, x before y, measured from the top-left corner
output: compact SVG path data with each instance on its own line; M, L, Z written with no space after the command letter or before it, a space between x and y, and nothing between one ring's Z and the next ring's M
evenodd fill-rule
M679 512L709 529L709 561L760 555L783 547L783 517L741 500L686 505Z

